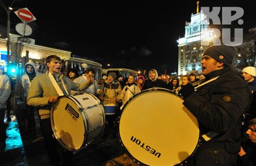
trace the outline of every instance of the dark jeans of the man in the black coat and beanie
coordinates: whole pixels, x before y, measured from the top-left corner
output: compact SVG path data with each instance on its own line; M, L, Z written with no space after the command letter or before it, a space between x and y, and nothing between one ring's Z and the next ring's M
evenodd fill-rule
M198 147L195 153L196 166L233 166L236 165L238 153L232 154L225 150L225 147L209 149L207 147Z

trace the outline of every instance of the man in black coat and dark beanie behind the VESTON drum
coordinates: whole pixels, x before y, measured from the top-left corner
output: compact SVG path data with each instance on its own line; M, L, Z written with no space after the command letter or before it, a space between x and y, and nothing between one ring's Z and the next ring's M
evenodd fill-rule
M197 166L233 165L240 152L239 120L250 102L250 89L230 68L236 55L231 46L208 47L201 60L205 82L183 102L200 123Z

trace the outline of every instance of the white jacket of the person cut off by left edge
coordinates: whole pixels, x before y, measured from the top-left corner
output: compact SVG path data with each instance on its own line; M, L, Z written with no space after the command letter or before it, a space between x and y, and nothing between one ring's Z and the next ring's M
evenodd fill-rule
M10 96L10 79L0 74L0 109L5 109L6 101Z

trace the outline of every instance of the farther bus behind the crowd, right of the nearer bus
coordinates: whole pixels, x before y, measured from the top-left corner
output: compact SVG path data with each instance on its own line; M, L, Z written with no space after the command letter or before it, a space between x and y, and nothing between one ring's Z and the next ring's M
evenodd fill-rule
M126 68L109 68L109 69L102 69L103 75L108 75L109 72L115 72L116 75L122 75L123 78L128 78L129 75L133 75L135 79L137 79L137 71L134 71L132 69L126 69Z

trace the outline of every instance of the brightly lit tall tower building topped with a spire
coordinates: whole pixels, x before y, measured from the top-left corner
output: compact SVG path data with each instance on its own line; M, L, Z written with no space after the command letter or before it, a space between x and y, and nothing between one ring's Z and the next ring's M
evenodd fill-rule
M209 33L209 22L203 11L199 11L197 1L197 13L191 14L191 21L185 23L185 36L177 40L179 47L178 75L201 71L202 54L208 46L201 45L201 39L205 33Z

